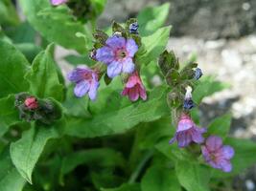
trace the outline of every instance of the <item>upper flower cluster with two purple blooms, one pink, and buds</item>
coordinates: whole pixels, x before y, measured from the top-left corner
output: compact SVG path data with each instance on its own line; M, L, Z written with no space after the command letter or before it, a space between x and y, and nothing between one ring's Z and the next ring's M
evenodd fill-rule
M136 101L139 97L143 100L147 99L146 89L139 74L140 65L135 63L140 44L138 25L136 21L128 22L127 25L126 30L114 23L111 36L107 36L102 31L94 33L96 42L90 57L96 61L95 66L92 68L78 67L67 76L71 82L76 84L74 89L76 96L88 94L91 100L95 100L101 76L105 75L111 80L124 74L128 77L125 79L127 82L122 96L128 96L131 101Z

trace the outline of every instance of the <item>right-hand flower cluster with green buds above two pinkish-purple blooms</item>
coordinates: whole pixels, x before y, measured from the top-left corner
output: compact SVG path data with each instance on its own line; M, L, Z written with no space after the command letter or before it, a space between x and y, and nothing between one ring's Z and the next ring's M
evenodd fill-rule
M202 157L213 168L230 172L232 164L230 159L234 156L234 149L222 145L222 139L217 136L203 137L206 128L199 128L190 117L190 110L196 106L193 101L193 86L201 77L202 72L197 63L190 63L179 70L178 59L173 52L164 52L159 59L159 66L164 74L167 84L172 88L168 94L170 108L177 114L173 121L176 122L176 132L170 144L177 142L178 147L184 148L196 143L201 145ZM181 90L181 91L180 91ZM177 120L176 120L177 119Z

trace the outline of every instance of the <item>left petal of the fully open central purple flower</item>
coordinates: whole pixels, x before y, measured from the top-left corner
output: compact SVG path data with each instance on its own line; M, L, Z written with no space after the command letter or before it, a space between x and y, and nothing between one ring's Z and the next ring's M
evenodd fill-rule
M114 60L114 53L109 47L102 47L96 51L96 59L105 64L109 64Z

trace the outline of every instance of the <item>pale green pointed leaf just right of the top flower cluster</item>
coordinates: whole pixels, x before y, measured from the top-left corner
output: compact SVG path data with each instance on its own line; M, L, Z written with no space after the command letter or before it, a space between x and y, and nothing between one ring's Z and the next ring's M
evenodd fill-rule
M138 54L137 62L141 65L148 65L152 60L156 59L160 53L163 53L169 39L170 31L170 26L164 27L149 36L142 37L142 44L144 46L142 46L138 53L136 53ZM143 49L146 49L146 53L144 53Z

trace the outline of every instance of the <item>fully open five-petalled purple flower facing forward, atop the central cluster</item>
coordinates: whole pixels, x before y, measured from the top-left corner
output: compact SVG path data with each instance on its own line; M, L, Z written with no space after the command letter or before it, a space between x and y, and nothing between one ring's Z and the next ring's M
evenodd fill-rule
M107 65L107 75L113 78L122 72L131 74L134 71L132 58L137 51L138 46L132 38L113 35L97 50L96 59Z

